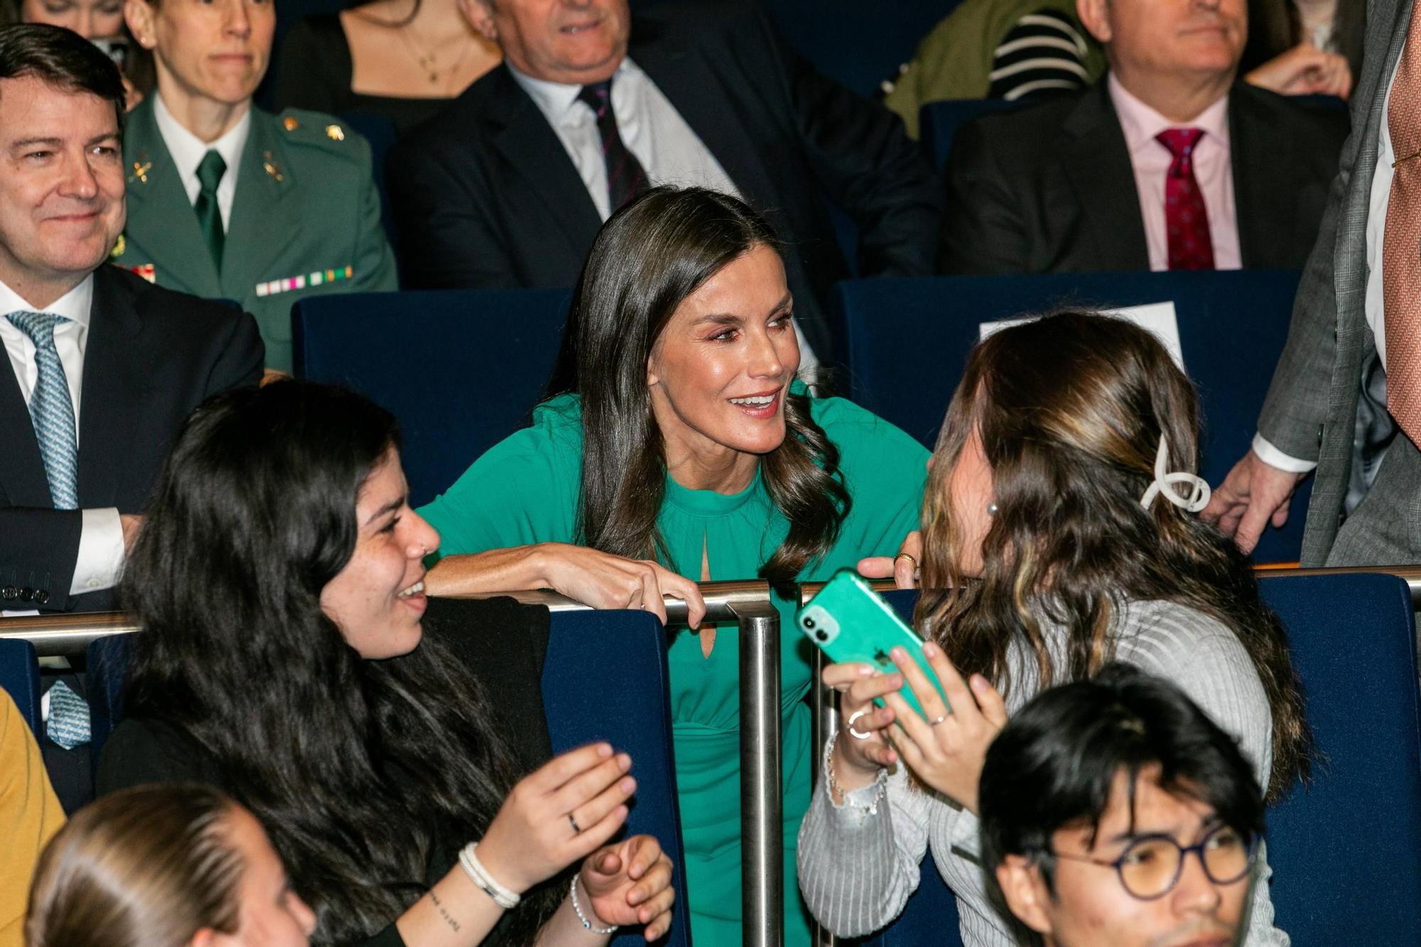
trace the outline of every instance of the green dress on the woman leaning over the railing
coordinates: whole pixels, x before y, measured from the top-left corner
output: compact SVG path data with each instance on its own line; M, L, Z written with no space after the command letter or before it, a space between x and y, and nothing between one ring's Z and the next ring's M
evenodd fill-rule
M840 449L853 498L838 542L804 582L828 579L858 559L892 555L918 526L928 452L907 434L841 398L816 398L811 415ZM537 542L576 542L581 476L581 401L560 395L540 405L533 427L496 445L446 493L422 508L441 533L441 555ZM739 493L692 491L666 479L658 526L668 567L701 576L702 549L712 579L753 579L789 529L756 475ZM799 897L794 850L809 806L809 641L793 631L794 606L777 601L784 747L786 943L809 944L809 913ZM671 711L676 783L691 896L692 938L701 947L740 944L740 711L735 626L718 631L710 657L695 634L671 644Z

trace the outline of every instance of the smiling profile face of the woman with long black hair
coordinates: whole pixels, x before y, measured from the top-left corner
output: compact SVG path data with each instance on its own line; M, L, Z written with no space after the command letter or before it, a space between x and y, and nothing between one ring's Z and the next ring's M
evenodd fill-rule
M439 533L409 508L395 451L365 478L355 526L355 552L321 589L321 611L362 658L409 654L426 606L423 557L439 547Z

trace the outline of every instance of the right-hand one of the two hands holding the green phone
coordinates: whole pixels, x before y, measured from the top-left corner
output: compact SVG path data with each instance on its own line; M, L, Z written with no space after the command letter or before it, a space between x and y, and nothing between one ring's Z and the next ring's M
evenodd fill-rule
M917 661L904 648L894 648L888 657L928 718L915 714L898 694L888 694L884 700L895 711L897 721L887 731L888 741L918 779L976 815L982 765L988 747L1006 725L1006 702L980 674L963 681L932 641L922 646L922 654L938 675L952 711L944 707L942 697ZM824 675L827 678L828 671Z

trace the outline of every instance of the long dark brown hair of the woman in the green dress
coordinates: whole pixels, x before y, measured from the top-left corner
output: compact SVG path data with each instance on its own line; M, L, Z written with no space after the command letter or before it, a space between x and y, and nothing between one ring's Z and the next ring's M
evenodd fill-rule
M597 235L567 330L583 397L578 530L585 545L669 563L657 529L666 472L647 360L682 300L757 246L777 250L764 218L703 188L648 191ZM786 394L784 424L784 442L760 458L770 501L790 522L784 542L760 567L782 590L834 545L851 502L838 448L810 417L807 395Z

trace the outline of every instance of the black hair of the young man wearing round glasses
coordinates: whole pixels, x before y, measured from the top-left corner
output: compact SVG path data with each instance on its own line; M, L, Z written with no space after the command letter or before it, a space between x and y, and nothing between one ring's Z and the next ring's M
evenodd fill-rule
M1123 663L1042 691L992 741L978 785L982 867L1000 899L1007 855L1034 863L1054 890L1052 835L1088 826L1090 843L1115 776L1134 786L1160 766L1160 788L1211 806L1248 838L1263 835L1263 792L1238 742L1174 684Z

